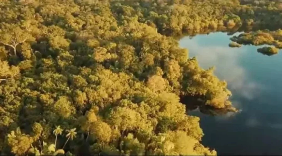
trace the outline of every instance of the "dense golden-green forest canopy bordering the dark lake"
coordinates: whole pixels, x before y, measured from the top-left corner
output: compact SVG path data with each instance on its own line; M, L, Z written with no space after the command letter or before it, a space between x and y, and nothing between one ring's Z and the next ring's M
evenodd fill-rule
M177 37L274 31L281 8L274 0L0 0L0 152L216 155L185 108L236 111L231 92Z

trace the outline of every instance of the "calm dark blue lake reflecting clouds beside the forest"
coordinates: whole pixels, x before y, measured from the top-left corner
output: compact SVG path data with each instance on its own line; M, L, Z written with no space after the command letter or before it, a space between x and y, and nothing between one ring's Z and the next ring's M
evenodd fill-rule
M215 75L226 80L231 101L242 112L201 118L203 144L218 154L282 155L282 51L273 56L257 52L258 46L230 48L227 33L184 37L188 48L203 68L216 67Z

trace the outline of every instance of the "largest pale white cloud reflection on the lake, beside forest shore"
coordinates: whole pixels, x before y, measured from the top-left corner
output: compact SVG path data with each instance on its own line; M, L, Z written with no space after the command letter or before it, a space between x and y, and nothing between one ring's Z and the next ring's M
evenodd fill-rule
M206 40L213 40L205 36ZM228 38L227 38L228 40ZM220 43L220 41L219 41ZM249 100L253 99L262 86L252 81L243 66L240 66L244 48L230 48L228 44L205 45L201 46L197 40L185 37L180 40L180 46L189 50L189 56L196 56L201 67L207 69L215 66L215 74L221 79L226 80L228 88L234 93Z

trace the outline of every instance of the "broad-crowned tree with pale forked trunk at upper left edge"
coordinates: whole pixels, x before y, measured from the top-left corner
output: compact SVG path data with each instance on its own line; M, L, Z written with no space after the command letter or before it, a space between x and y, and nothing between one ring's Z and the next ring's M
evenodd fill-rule
M15 56L17 56L16 47L30 39L33 39L30 33L15 24L3 24L1 26L0 42L5 46L13 48Z

